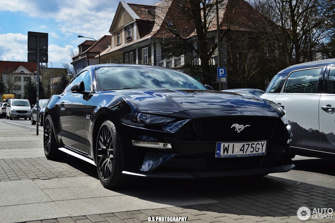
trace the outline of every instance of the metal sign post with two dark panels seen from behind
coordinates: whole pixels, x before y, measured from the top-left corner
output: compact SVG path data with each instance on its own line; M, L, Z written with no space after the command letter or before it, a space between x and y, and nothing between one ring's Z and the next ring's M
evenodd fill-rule
M41 56L41 58L40 58ZM40 63L48 63L48 34L28 32L28 62L37 62L36 135L39 135ZM28 92L27 92L28 95ZM32 117L31 117L32 118Z

